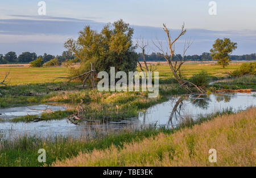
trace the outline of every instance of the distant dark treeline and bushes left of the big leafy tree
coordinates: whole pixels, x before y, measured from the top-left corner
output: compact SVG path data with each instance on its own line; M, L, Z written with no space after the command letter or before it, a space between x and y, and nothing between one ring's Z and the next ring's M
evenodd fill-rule
M4 63L29 63L31 61L36 60L39 56L36 53L30 53L30 52L23 52L19 56L16 55L15 52L8 52L5 55L0 54L0 64ZM64 51L61 56L57 55L51 55L44 53L43 56L41 56L43 59L43 62L48 62L54 58L57 58L59 62L64 62L65 60L73 60L75 56L68 52Z

